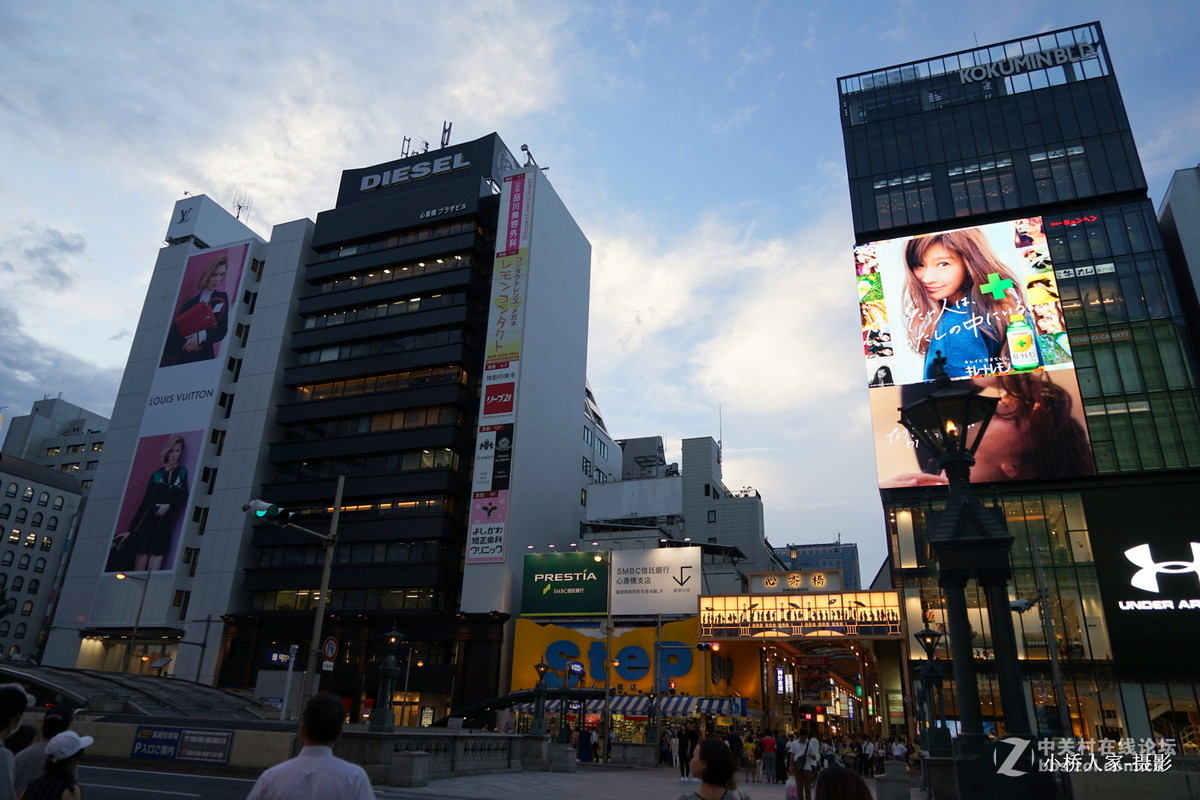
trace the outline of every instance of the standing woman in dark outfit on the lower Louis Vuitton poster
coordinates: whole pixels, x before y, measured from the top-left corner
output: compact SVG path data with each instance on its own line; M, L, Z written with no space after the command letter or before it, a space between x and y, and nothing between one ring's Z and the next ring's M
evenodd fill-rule
M120 569L116 563L130 555L136 571L162 569L175 521L187 505L187 468L182 461L184 437L174 435L162 452L162 467L150 475L130 529L113 539L109 569Z

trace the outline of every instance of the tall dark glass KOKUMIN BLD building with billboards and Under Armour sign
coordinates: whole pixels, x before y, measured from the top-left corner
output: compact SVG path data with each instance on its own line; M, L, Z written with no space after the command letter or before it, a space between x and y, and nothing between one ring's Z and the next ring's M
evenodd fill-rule
M898 422L941 354L998 399L971 481L1015 537L1010 597L1032 601L1013 622L1036 733L1196 754L1196 359L1099 23L847 76L839 95L907 631L947 624L928 541L946 479ZM985 728L1003 732L974 583L968 614Z

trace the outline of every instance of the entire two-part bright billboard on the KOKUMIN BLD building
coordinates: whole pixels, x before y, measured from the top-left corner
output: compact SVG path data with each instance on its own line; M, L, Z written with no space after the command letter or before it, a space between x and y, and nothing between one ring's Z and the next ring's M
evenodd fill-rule
M934 360L1000 405L973 482L1096 471L1042 217L854 248L880 486L944 483L898 409L934 390Z

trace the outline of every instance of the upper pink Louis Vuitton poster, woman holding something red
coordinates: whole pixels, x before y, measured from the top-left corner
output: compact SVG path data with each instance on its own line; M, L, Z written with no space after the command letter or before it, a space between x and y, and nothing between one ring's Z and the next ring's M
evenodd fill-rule
M209 249L187 259L160 367L211 361L229 335L230 302L238 301L246 245Z

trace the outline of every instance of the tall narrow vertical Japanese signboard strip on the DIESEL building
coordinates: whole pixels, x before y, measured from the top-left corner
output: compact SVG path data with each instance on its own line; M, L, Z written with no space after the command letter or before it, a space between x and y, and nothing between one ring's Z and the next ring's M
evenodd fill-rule
M504 561L509 521L509 468L521 377L534 179L532 173L521 172L505 176L503 182L475 437L467 564Z

